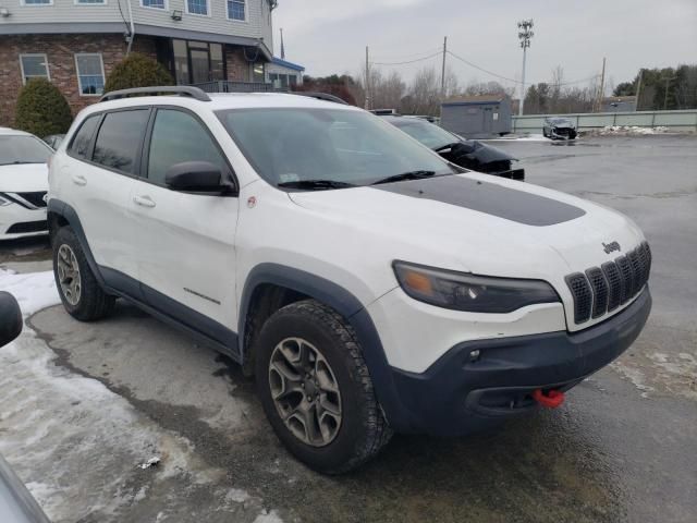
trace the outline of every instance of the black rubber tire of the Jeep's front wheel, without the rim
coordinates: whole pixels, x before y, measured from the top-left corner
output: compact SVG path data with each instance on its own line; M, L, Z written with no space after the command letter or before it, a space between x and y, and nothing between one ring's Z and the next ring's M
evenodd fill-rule
M342 422L334 439L323 447L296 437L279 414L271 393L269 364L284 339L311 343L331 366L342 401ZM257 392L273 430L285 447L310 469L342 474L376 455L392 437L375 396L368 367L353 328L332 308L315 300L292 303L277 311L255 343Z

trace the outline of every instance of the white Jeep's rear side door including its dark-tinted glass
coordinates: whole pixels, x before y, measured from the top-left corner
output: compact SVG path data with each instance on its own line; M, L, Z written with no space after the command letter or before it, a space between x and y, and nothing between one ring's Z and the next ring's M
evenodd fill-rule
M135 184L149 108L130 108L88 117L61 167L70 180L87 244L110 287L138 296L133 252L131 193Z

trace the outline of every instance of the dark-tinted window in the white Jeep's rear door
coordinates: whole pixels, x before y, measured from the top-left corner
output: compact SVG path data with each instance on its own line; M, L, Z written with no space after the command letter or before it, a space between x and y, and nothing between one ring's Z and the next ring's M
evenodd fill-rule
M133 174L148 109L110 112L99 127L93 161Z

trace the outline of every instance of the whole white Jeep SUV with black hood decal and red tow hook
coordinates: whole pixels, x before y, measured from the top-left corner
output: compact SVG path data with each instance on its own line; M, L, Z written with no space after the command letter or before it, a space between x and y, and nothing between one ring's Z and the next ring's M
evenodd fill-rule
M125 94L51 162L65 309L123 297L228 354L315 470L558 406L646 323L650 251L609 208L467 172L346 105Z

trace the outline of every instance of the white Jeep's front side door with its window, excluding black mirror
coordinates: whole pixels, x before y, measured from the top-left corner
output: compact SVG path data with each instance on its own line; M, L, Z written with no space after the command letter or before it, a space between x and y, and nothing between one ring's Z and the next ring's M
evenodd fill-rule
M235 250L239 203L232 195L170 190L167 170L208 161L233 179L207 125L182 108L154 111L134 187L138 279L147 302L227 345L236 330Z

